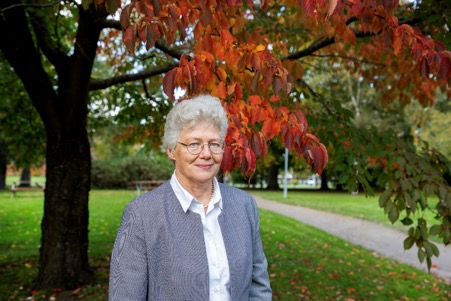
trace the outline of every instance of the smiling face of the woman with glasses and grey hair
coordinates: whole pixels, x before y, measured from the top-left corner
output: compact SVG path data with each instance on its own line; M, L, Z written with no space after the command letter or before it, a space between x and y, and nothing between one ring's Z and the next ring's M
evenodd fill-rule
M220 142L219 129L209 122L200 122L182 130L178 142L200 145ZM168 149L169 157L175 162L177 179L185 188L211 185L211 180L218 173L223 153L213 154L205 144L202 151L193 155L187 148L177 143L175 149Z

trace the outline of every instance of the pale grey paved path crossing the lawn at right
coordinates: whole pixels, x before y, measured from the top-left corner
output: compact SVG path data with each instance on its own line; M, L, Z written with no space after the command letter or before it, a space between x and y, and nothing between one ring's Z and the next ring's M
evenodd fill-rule
M271 210L294 218L353 244L427 271L426 263L420 264L418 261L415 246L410 250L404 250L403 241L407 237L406 232L358 218L254 197L261 209ZM431 273L451 283L451 245L445 247L443 244L437 244L437 247L440 250L440 256L432 258L434 267L431 269Z

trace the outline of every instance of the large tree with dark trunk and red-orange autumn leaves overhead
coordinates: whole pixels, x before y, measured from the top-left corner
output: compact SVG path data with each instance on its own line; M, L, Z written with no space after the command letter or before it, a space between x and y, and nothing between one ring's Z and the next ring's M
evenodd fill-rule
M170 98L177 89L186 95L210 92L218 96L231 121L222 169L238 168L250 176L256 157L267 154L267 142L272 139L280 139L285 147L303 156L316 172L321 173L326 166L324 145L307 132L302 107L294 105L291 97L293 89L302 86L304 66L314 64L315 55L330 54L330 64L344 56L381 61L384 68L362 69L358 61L346 68L372 78L388 102L407 102L405 91L424 104L433 102L430 91L441 82L433 76L419 77L418 72L412 72L416 68L424 76L438 74L448 80L449 52L442 43L409 25L421 21L413 19L414 10L399 7L396 1L299 3L263 1L254 6L253 1L130 1L120 11L119 23L113 15L121 5L119 0L0 2L0 49L39 113L47 138L38 288L71 288L91 275L87 257L91 170L87 125L88 110L95 107L90 107L90 91L101 93L131 81L136 81L134 88L139 85L145 91L150 82L142 79L166 73L163 89ZM409 21L398 21L398 13ZM130 53L118 47L122 30ZM388 83L392 89L387 89ZM304 91L308 94L307 88ZM123 98L113 103L134 106L133 93L121 95ZM97 100L104 98L110 96L105 93ZM147 99L152 108L164 102ZM325 109L330 119L352 127L344 110L333 109ZM149 128L155 129L149 136L161 132L158 120L149 123ZM344 137L344 131L338 136ZM346 150L363 163L366 154L363 158L357 142L369 140L355 141ZM383 138L377 142L381 148L387 145ZM375 157L373 152L370 155ZM446 201L439 208L442 227L434 231L445 237L450 233L449 189L435 172L437 166L432 168L428 161L420 163L429 168L430 179L423 180L429 188L421 184L418 189L409 189L407 169L411 162L413 159L407 158L398 169L389 170L396 174L390 183L394 189L381 203L395 219L396 212L414 210L424 201L424 197L405 201L415 191L426 190L425 195L439 192L440 199ZM364 164L357 166L359 172L349 178L350 187L358 185L355 181L368 182ZM427 238L415 233L412 237L423 248ZM432 253L426 255L430 258Z

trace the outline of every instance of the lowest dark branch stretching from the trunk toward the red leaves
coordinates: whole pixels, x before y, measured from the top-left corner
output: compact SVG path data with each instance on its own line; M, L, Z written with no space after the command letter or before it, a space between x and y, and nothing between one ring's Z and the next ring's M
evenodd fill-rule
M122 84L126 82L136 81L143 78L149 78L153 76L157 76L163 73L170 71L171 69L178 67L177 63L170 63L164 67L157 67L152 70L144 70L142 72L138 72L135 74L125 74L119 75L115 77L111 77L103 80L91 80L91 85L89 86L90 91L102 90L108 87L111 87L116 84Z

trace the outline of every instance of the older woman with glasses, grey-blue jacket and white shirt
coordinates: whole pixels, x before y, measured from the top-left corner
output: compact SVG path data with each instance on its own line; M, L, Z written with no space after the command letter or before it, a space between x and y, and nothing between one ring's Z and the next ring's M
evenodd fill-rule
M130 202L111 257L109 300L271 300L255 200L219 183L227 116L217 98L166 119L170 181Z

